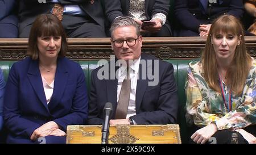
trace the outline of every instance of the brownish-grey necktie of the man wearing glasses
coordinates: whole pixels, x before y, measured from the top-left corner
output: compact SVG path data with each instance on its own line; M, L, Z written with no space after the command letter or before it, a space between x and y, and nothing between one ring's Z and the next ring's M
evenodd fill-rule
M123 79L117 110L115 111L115 119L125 119L127 115L130 92L131 92L131 79L129 76L129 69L126 69L126 78Z

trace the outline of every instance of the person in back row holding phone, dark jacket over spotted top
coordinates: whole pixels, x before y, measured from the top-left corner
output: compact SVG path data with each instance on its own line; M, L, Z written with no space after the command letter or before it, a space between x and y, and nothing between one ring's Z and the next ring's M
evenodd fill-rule
M130 16L142 26L143 20L153 20L153 26L142 27L143 36L172 36L168 22L170 0L105 0L110 23L118 16Z

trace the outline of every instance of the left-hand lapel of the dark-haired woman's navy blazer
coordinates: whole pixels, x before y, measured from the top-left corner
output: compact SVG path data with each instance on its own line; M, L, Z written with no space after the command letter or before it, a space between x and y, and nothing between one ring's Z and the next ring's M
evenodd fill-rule
M47 111L49 112L46 103L46 95L43 89L42 77L39 72L38 61L31 60L27 76L28 80L31 83L31 86L35 91L35 94L38 96L40 102L44 105L44 107L46 107Z

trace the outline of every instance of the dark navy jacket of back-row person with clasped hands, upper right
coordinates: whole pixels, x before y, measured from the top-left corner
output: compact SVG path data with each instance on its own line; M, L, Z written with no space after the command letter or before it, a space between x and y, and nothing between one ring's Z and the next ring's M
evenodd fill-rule
M208 11L203 14L200 0L179 0L175 1L174 12L181 27L198 32L199 24L210 24L213 19L222 14L230 14L241 18L243 3L242 0L217 0L217 3L208 3Z

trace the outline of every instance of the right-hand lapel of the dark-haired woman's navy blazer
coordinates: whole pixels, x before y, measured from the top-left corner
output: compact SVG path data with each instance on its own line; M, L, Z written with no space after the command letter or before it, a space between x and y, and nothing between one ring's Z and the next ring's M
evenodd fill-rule
M54 88L51 101L48 103L49 110L59 104L68 81L68 71L65 68L64 58L58 58L57 69L54 78Z

